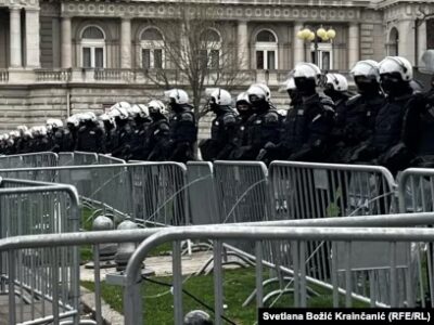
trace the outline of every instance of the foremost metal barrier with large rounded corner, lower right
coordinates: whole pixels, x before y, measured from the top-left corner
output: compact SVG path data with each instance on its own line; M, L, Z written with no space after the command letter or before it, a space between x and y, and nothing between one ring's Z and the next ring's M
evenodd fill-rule
M384 216L381 216L384 217ZM357 219L357 218L354 218ZM392 229L392 227L282 227L282 226L220 226L201 225L187 229L166 229L146 238L130 258L125 280L124 294L124 314L125 324L143 324L142 320L142 297L140 281L140 269L142 261L152 248L163 243L173 243L173 270L174 270L174 320L175 324L181 324L183 317L182 308L182 261L181 261L181 240L184 239L213 239L214 240L214 297L215 297L215 324L224 324L224 276L221 268L222 244L224 240L234 239L251 240L255 244L256 260L261 260L261 243L266 240L285 240L291 243L288 255L294 260L294 307L307 306L307 272L305 261L307 259L307 242L327 240L331 242L333 251L341 253L332 255L332 288L333 307L340 307L339 299L339 274L345 277L345 307L349 308L353 303L353 282L352 276L355 258L353 256L354 244L356 242L379 242L390 249L390 270L388 272L388 296L391 307L414 307L416 296L413 288L418 285L418 280L412 276L409 268L399 276L397 260L397 247L399 243L409 248L410 242L429 243L434 240L433 229ZM410 249L406 250L406 262L409 263ZM342 270L340 270L342 265ZM408 264L407 264L408 265ZM263 306L263 274L261 263L256 264L256 290L257 307ZM401 284L404 283L404 285ZM398 291L404 287L405 300L398 300ZM369 289L368 289L369 290ZM375 297L373 295L373 297ZM374 300L373 300L374 301Z

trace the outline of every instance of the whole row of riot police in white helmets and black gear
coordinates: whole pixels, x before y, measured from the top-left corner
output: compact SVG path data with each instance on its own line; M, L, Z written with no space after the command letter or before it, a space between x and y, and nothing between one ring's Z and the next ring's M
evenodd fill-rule
M412 66L401 56L380 63L357 62L350 75L357 94L340 74L323 75L311 63L298 63L282 90L291 99L278 112L270 89L254 83L238 95L220 88L206 91L215 114L210 139L201 141L202 159L368 164L396 174L408 167L434 164L434 78L422 92ZM196 116L182 89L165 91L146 105L116 103L108 113L48 119L47 126L17 127L2 134L0 153L94 152L125 160L195 159Z

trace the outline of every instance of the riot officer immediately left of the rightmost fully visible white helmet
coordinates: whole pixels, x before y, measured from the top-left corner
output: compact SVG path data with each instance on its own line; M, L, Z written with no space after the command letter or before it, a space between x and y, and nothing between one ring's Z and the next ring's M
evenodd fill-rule
M352 152L372 134L375 117L385 104L380 89L379 64L373 60L359 61L350 72L358 94L336 108L332 139L335 146L330 155L333 162L347 164Z

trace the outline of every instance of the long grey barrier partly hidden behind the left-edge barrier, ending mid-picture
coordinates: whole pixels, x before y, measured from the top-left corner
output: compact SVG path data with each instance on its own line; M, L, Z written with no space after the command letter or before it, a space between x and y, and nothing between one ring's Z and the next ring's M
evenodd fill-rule
M71 184L95 208L138 222L180 225L190 223L186 172L178 162L142 162L3 169L0 176Z

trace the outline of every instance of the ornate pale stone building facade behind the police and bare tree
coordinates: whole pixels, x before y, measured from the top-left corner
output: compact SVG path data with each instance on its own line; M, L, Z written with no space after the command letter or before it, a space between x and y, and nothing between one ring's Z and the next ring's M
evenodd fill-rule
M240 90L254 81L277 90L295 63L315 57L326 70L347 73L358 60L387 54L418 65L434 48L434 20L420 15L434 13L432 0L0 0L0 129L161 94L143 69L174 66L152 22L173 18L179 4L216 17L215 38L243 58ZM316 52L297 32L320 26L336 37ZM284 105L284 96L275 99Z

